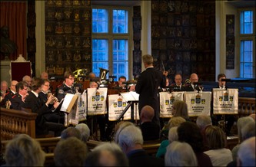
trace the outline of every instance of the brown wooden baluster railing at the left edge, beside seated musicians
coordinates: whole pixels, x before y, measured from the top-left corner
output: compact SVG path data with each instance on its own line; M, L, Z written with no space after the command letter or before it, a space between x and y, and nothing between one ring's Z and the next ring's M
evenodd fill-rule
M36 113L25 110L12 110L1 107L1 140L12 139L19 133L35 138Z

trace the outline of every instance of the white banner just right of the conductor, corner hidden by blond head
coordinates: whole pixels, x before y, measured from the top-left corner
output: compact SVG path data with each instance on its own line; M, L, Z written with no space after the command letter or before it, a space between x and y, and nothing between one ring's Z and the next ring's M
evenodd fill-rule
M184 92L160 92L160 117L170 118L172 116L172 103L175 100L183 101Z

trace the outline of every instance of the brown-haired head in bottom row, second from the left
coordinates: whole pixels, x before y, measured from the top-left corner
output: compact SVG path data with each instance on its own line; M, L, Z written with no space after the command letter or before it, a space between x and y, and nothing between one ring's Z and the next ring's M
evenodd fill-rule
M54 152L56 166L82 166L88 154L85 142L76 137L62 139L57 143Z

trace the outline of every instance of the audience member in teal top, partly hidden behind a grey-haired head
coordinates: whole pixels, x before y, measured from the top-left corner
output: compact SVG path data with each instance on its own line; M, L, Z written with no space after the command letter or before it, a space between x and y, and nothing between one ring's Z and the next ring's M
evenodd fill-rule
M158 148L158 152L156 153L156 157L158 158L164 158L165 157L165 152L167 146L173 142L178 140L178 132L177 132L178 126L172 127L169 129L168 132L168 139L165 139L161 142L161 145Z

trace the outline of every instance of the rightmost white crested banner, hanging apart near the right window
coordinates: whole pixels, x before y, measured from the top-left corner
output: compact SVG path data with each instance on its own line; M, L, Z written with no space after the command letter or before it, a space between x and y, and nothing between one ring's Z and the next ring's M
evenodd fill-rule
M213 89L214 114L238 114L238 89Z

